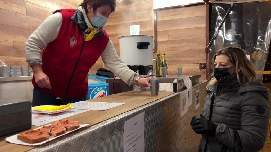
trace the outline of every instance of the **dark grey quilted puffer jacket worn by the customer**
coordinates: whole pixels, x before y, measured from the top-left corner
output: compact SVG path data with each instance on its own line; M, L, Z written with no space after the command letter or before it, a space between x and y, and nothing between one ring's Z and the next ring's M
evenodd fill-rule
M218 127L215 137L202 135L199 151L256 152L263 148L270 118L269 93L261 82L240 85L236 74L207 85L201 114Z

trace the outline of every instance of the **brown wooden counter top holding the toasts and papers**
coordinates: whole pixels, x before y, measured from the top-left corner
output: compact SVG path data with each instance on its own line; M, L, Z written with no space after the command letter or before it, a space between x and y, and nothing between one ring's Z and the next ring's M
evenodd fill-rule
M175 92L159 92L159 95L150 95L150 91L142 91L142 92L128 91L128 92L122 92L119 94L109 95L109 96L102 97L102 98L92 99L92 100L88 100L88 101L112 102L112 103L124 103L125 102L126 104L120 105L118 107L111 108L108 110L104 110L104 111L89 110L85 113L81 113L78 115L74 115L72 117L68 117L67 119L77 120L77 121L79 121L80 124L89 124L89 126L91 126L91 125L100 123L104 120L107 120L109 118L120 115L122 113L125 113L127 111L138 108L142 105L156 101L160 98L166 97L166 96L173 94L173 93L175 93ZM89 127L89 126L87 126L87 127ZM32 126L31 129L34 129L34 128L37 128L37 126ZM84 130L84 128L79 129L79 131L80 130ZM76 131L78 131L78 130L76 130ZM20 132L23 132L23 131L20 131ZM0 137L0 151L13 151L13 152L20 151L21 152L21 151L28 151L28 150L31 150L36 147L36 146L24 146L24 145L19 145L19 144L12 144L12 143L5 141L6 137L12 136L14 134L18 134L20 132ZM64 137L64 136L62 136L62 137ZM54 139L54 140L59 140L59 139ZM48 144L50 142L52 142L52 141L49 141L45 144Z

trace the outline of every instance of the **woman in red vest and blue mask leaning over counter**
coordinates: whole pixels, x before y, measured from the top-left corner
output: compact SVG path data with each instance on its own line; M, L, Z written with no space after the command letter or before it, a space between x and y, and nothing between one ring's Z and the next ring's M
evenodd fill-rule
M78 9L57 10L31 34L25 47L33 69L32 106L82 101L88 91L86 76L101 56L125 83L150 87L151 78L137 78L118 57L102 28L114 12L115 0L84 0Z

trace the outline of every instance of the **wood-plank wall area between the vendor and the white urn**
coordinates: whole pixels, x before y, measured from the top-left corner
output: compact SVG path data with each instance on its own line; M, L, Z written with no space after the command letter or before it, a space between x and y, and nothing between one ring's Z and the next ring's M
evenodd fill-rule
M138 24L140 25L140 35L153 36L153 0L117 1L115 12L109 16L104 29L109 34L119 56L119 37L130 35L130 26ZM92 69L102 67L101 57L93 66L94 68L92 67ZM105 66L105 68L107 67ZM96 74L96 71L93 72Z

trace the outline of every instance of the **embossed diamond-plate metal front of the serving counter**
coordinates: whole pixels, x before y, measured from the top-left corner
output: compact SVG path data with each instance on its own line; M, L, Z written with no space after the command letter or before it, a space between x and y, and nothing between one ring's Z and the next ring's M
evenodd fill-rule
M195 152L201 136L190 127L190 120L199 115L206 97L207 82L193 87L193 104L180 118L180 92L116 117L82 128L75 133L62 136L43 144L33 152L123 152L124 122L145 111L145 151L146 152ZM200 107L195 110L195 91L200 90Z

